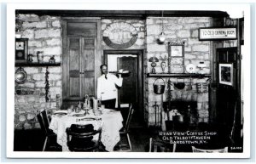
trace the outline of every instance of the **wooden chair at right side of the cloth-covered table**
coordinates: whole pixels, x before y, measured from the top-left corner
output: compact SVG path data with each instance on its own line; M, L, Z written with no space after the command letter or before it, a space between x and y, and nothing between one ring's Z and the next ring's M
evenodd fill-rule
M128 116L125 121L125 127L123 127L119 131L120 137L125 136L125 139L127 140L127 142L123 142L123 140L121 139L121 141L119 143L118 151L131 151L132 150L131 139L130 139L130 135L129 135L129 127L130 127L133 112L134 112L134 109L132 109L132 105L130 105L129 111L128 111Z

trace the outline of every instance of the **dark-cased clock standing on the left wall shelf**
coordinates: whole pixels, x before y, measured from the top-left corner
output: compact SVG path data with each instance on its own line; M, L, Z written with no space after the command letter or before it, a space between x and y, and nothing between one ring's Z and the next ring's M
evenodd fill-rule
M15 62L26 63L27 56L27 38L15 39Z

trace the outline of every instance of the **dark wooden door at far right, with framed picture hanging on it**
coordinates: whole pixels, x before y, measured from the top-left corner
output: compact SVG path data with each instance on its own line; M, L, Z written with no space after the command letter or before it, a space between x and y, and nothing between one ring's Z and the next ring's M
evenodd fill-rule
M224 84L225 80L219 73L221 64L232 65L230 73L233 76L232 84ZM232 143L241 145L241 98L240 98L240 59L237 48L217 48L217 121L227 135L230 135Z

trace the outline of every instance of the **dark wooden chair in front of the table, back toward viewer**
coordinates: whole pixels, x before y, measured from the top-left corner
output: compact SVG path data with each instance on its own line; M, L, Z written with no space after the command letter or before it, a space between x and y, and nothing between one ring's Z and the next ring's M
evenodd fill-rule
M102 128L94 130L92 124L72 124L67 127L67 146L70 151L97 151L101 145ZM98 138L93 139L98 135Z

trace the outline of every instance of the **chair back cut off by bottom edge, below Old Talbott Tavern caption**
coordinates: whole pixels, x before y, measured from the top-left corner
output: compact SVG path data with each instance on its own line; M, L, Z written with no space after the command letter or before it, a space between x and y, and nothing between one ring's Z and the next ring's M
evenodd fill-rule
M175 152L176 144L163 141L158 138L149 139L149 152Z

